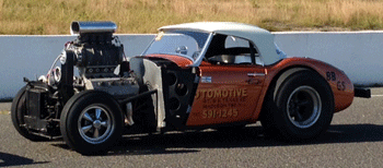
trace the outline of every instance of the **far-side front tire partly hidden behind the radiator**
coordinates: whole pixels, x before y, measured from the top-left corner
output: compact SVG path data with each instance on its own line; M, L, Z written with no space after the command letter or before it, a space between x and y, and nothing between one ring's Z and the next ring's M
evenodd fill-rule
M26 115L26 86L22 87L16 96L13 98L12 106L11 106L11 118L14 128L18 130L18 132L24 136L27 140L37 142L37 141L48 141L48 139L38 136L35 134L32 134L25 127L22 127L22 124L25 124L24 122L24 116Z

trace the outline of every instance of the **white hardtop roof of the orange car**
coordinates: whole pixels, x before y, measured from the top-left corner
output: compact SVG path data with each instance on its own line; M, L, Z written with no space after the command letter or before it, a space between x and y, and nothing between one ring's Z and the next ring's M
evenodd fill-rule
M266 29L249 24L235 22L196 22L163 26L160 27L159 31L196 31L236 36L252 40L258 48L266 65L272 64L281 59L276 51L274 35Z

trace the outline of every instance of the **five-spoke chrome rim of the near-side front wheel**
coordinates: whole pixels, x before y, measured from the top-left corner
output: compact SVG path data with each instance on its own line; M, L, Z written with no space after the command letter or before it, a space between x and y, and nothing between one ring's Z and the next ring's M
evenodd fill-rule
M100 105L92 105L81 111L78 129L83 140L91 144L100 144L111 137L115 129L109 110Z

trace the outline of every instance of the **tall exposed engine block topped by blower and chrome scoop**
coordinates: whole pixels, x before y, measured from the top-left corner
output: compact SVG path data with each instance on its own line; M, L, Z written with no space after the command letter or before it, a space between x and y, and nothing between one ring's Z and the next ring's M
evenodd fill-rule
M113 36L116 27L112 22L73 22L71 33L79 36L68 43L59 56L62 76L60 72L56 72L60 68L56 68L48 81L70 85L72 67L76 67L79 73L73 79L76 92L101 89L116 97L137 94L138 87L131 87L135 81L127 74L129 63L125 58L124 46L118 37ZM61 79L63 81L59 81Z

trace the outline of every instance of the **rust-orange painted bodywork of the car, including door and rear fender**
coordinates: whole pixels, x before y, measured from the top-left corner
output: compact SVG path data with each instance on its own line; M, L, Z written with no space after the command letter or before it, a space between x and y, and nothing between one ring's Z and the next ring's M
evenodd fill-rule
M181 68L188 68L192 64L189 59L177 56L161 55L161 58L171 60ZM293 68L314 70L328 82L334 95L334 112L341 111L351 105L353 85L350 80L343 71L318 60L287 58L276 64L265 67L219 65L202 61L199 65L201 80L187 125L256 122L271 82L281 73ZM249 73L265 75L249 77L247 75ZM336 79L328 77L328 73L334 73ZM204 82L204 76L209 76L211 82Z

